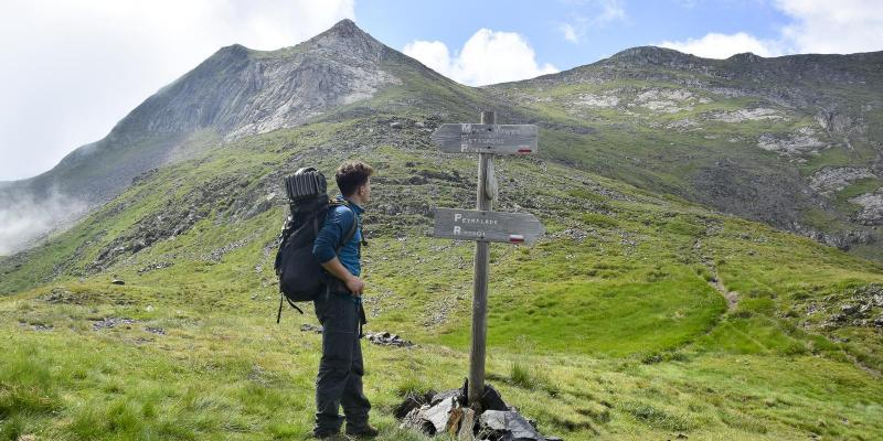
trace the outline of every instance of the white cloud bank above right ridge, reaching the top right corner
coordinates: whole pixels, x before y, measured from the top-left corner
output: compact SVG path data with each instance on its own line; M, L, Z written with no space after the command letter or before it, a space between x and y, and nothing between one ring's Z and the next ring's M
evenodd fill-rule
M851 54L883 50L883 9L879 0L775 0L792 21L772 40L738 32L709 33L700 39L657 45L710 58L741 52L760 56L786 54Z

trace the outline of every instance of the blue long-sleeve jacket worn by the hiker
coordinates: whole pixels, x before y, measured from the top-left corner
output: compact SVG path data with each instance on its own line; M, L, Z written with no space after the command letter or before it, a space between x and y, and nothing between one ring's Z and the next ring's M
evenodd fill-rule
M343 201L343 196L338 195L337 200ZM319 230L319 235L316 236L316 241L312 245L312 256L321 263L326 263L337 257L343 268L347 268L350 273L358 277L362 273L362 263L360 261L362 256L361 247L359 246L362 241L361 222L352 239L340 248L340 252L336 252L340 241L344 239L347 233L352 228L352 223L357 222L357 216L361 219L361 215L364 213L364 208L359 205L352 202L349 205L352 209L345 206L332 206L328 211L325 225Z

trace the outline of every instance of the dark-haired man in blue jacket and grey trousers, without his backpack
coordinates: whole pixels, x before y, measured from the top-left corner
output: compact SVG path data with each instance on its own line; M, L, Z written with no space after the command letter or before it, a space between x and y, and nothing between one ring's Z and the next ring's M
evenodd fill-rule
M340 189L316 237L312 255L328 272L325 290L313 302L322 324L322 358L316 378L316 438L333 438L347 421L347 434L375 437L368 423L371 404L362 392L361 325L364 321L361 275L363 206L371 198L374 170L361 161L344 162L334 173ZM355 224L355 234L347 240ZM345 243L343 243L345 240ZM338 408L343 407L343 415Z

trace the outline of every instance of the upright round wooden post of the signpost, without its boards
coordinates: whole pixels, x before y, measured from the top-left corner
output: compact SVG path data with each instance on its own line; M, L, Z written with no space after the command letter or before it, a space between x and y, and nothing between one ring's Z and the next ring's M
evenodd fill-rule
M481 112L481 123L497 123L492 111ZM488 184L493 180L493 154L478 154L478 198L479 211L491 211L492 201ZM469 406L480 412L481 397L485 396L485 354L488 334L488 266L490 263L490 243L476 243L475 279L472 281L472 345L469 351Z

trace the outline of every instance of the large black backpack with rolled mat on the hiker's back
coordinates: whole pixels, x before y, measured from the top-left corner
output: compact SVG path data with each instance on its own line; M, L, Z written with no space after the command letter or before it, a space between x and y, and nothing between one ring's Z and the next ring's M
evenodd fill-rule
M312 301L321 293L328 276L312 256L312 244L325 225L328 209L332 206L347 206L345 203L329 201L325 175L313 168L300 169L286 178L285 191L290 215L279 235L279 249L274 265L276 276L279 277L280 292L276 323L281 319L285 301L302 314L304 311L295 302ZM338 252L355 236L358 227L359 216L355 216L355 222L337 248Z

